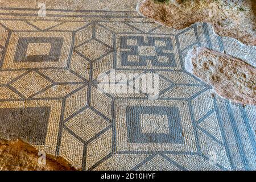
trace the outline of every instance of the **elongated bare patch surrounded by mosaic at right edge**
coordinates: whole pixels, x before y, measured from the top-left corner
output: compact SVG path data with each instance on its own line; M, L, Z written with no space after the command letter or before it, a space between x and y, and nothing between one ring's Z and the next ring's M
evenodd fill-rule
M189 51L185 68L213 85L220 96L256 105L256 69L242 60L197 47Z

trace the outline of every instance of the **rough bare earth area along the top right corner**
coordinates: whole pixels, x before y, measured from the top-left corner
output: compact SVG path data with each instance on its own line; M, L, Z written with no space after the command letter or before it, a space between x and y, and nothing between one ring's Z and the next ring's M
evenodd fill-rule
M142 15L175 29L188 27L195 22L208 22L213 24L214 30L220 36L230 36L242 43L256 45L256 1L164 2L145 0L139 5L138 10Z

